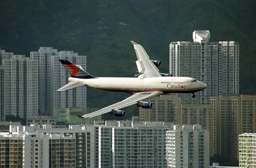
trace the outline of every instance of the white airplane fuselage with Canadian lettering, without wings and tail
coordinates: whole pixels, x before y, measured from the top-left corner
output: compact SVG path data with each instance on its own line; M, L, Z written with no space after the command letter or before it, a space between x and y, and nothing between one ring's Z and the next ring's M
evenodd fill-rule
M69 77L69 81L80 81L96 89L115 92L158 91L164 93L195 93L207 88L207 85L192 77L95 77L78 79Z

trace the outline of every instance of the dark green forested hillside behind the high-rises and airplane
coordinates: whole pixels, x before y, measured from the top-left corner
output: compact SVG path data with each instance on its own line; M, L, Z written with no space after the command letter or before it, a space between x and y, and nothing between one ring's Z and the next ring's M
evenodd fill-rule
M170 42L192 41L193 31L209 30L212 42L240 43L240 93L256 94L255 7L256 1L241 0L2 1L0 48L26 57L40 46L73 50L87 56L87 71L94 76L133 76L130 40L162 60L160 71L168 72ZM88 106L124 97L88 89Z

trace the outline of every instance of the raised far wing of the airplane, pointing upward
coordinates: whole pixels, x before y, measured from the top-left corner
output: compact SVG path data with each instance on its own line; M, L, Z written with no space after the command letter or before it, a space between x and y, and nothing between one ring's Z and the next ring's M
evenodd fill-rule
M136 61L139 74L141 74L143 77L159 77L162 76L156 68L155 64L152 63L150 58L148 57L146 51L143 49L143 47L139 44L137 44L134 41L131 41L131 43L134 46L135 53L137 55L138 61Z

